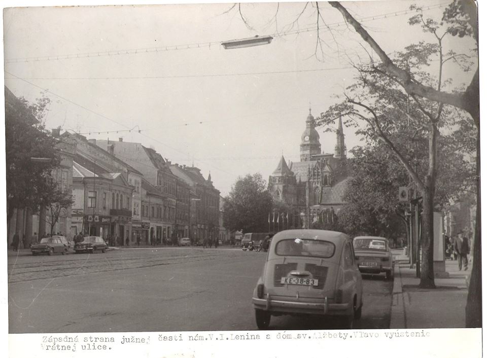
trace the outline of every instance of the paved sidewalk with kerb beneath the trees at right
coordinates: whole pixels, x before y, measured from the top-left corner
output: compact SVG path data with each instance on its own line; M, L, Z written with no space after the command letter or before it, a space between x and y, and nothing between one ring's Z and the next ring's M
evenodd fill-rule
M395 256L390 328L464 328L467 303L467 271L458 262L445 261L448 278L435 277L436 289L419 289L416 270L405 255Z

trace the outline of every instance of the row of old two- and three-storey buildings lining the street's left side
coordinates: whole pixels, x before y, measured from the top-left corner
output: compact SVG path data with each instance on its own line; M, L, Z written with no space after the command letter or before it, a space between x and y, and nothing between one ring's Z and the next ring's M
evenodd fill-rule
M9 96L10 100L15 98ZM15 99L13 99L15 100ZM165 243L180 237L193 242L227 241L223 198L211 174L195 166L171 163L140 143L88 139L54 129L60 167L53 173L61 190L73 195L52 232L73 239L78 233L101 236L116 244ZM50 210L17 210L9 228L29 240L50 233Z

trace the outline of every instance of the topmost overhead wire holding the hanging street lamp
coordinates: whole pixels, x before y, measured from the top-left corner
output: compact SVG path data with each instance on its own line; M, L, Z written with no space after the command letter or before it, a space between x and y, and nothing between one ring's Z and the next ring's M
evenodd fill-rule
M439 9L442 7L446 7L449 3L437 4L424 7L424 11ZM411 13L415 13L416 10L401 10L401 11L394 11L386 14L380 15L372 15L367 17L358 18L357 21L366 22L366 21L375 21L379 19L386 19L396 16L407 15ZM326 24L327 29L340 27L345 25L346 22L339 21L334 22L331 24ZM297 30L289 30L289 31L282 31L282 32L274 32L270 34L272 37L284 37L288 35L299 34L302 32L310 32L315 31L316 24L308 25L307 27L297 29ZM200 49L200 48L211 48L212 46L220 45L221 41L211 41L211 42L203 42L203 43L196 43L196 44L183 44L183 45L168 45L168 46L160 46L160 47L148 47L148 48L138 48L138 49L126 49L126 50L112 50L112 51L97 51L97 52L83 52L83 53L74 53L74 54L64 54L64 55L52 55L52 56L32 56L32 57L18 57L18 58L7 58L5 59L5 64L10 63L23 63L23 62L37 62L37 61L57 61L57 60L65 60L65 59L76 59L76 58L92 58L92 57L106 57L106 56L122 56L122 55L133 55L133 54L142 54L142 53L156 53L156 52L164 52L164 51L177 51L177 50L189 50L189 49Z

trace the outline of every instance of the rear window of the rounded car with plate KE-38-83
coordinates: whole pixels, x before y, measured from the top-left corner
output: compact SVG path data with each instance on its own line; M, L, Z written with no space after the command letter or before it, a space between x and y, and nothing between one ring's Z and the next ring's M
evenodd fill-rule
M275 245L275 254L280 256L311 256L330 258L335 254L335 244L315 239L284 239Z

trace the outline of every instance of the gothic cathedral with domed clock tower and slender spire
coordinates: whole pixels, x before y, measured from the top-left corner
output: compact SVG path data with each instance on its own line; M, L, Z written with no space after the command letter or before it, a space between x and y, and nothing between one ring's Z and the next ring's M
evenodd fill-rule
M311 224L317 221L333 223L336 213L344 205L342 196L347 176L341 117L338 119L334 154L321 151L320 134L315 126L315 118L309 109L299 146L300 161L287 164L282 156L269 176L269 191L274 200L283 201L293 208L290 228L311 228Z

